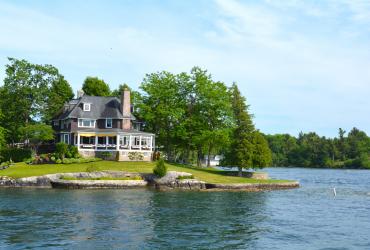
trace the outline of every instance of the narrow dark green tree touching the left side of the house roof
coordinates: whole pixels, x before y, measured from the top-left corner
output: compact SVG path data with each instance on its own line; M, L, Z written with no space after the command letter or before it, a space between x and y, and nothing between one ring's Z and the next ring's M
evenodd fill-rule
M63 108L63 105L73 98L73 90L69 83L60 77L52 82L49 90L49 98L47 100L47 108L44 115L44 121L49 122L58 111Z

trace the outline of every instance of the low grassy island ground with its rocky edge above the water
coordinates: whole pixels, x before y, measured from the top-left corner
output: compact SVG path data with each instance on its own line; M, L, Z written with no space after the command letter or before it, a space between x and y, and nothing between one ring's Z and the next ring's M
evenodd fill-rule
M73 164L16 163L0 172L0 187L142 188L159 190L263 191L299 187L297 181L266 179L266 174L166 163L167 174L153 174L155 162L95 161Z

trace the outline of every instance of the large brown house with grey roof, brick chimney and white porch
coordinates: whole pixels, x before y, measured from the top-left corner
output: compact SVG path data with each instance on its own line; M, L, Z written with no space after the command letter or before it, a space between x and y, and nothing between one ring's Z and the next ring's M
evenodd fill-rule
M79 94L52 120L56 141L77 146L83 157L150 161L155 136L140 131L139 125L131 114L128 90L121 98Z

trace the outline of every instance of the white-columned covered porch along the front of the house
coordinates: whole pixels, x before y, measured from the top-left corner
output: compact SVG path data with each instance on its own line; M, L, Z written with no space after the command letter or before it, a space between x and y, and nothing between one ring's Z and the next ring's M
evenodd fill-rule
M87 151L144 151L155 147L154 134L149 133L84 133L74 135L74 144Z

